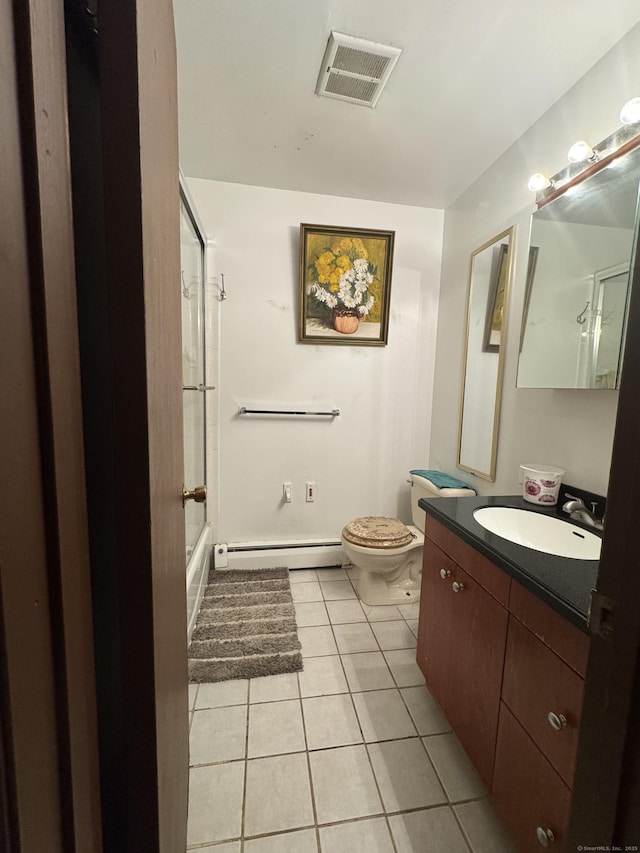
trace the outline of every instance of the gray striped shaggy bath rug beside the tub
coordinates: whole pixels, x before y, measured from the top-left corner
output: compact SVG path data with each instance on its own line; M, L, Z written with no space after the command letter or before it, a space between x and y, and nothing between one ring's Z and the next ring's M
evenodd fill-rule
M211 569L189 646L189 681L301 669L288 569Z

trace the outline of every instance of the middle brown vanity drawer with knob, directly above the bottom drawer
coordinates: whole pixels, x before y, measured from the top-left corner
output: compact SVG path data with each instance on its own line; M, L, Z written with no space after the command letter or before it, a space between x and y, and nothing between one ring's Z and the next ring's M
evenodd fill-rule
M509 617L502 700L569 787L575 771L583 687L579 675L517 619ZM550 718L550 714L555 716Z

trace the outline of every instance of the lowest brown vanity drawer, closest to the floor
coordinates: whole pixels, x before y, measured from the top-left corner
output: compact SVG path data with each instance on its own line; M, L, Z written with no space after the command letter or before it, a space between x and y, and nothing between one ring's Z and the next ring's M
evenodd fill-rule
M539 853L544 845L537 833L548 830L554 836L551 849L565 849L571 791L504 704L492 794L520 853Z

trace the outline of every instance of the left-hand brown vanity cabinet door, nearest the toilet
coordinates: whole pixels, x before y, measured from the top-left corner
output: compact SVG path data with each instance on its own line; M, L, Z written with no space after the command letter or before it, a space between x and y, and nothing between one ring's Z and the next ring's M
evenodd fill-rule
M425 538L417 662L435 700L447 716L453 641L451 581L457 571L453 560Z

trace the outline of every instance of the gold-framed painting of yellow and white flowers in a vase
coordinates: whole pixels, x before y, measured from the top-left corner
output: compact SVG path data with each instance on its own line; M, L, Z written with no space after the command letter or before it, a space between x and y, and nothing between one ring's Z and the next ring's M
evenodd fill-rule
M385 346L394 231L300 226L300 342Z

